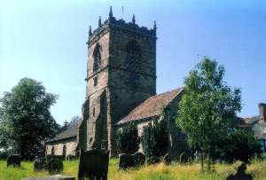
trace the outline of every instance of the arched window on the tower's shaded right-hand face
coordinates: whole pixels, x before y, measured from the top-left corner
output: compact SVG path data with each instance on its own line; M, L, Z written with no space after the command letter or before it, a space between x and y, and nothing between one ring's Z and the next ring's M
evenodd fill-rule
M141 48L136 40L131 40L126 45L127 57L125 67L129 71L137 71L140 67Z

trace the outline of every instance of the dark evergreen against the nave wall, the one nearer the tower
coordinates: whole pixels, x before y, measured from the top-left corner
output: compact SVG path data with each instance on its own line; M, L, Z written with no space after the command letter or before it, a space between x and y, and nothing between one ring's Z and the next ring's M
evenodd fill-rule
M122 127L117 132L117 147L121 153L136 153L139 149L137 125L134 122Z

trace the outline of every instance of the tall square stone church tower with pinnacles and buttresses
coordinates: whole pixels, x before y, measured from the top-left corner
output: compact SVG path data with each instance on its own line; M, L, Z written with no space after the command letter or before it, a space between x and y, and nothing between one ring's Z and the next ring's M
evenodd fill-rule
M156 25L153 29L109 18L89 31L86 100L78 148L115 151L116 122L156 94Z

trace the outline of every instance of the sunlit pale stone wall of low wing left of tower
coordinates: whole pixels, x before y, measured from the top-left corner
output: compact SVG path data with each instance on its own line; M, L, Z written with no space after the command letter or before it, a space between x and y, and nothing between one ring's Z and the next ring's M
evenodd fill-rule
M71 138L59 142L51 142L46 145L46 155L50 155L52 152L52 148L54 148L54 155L63 155L63 147L66 145L66 156L75 155L76 149L76 138Z

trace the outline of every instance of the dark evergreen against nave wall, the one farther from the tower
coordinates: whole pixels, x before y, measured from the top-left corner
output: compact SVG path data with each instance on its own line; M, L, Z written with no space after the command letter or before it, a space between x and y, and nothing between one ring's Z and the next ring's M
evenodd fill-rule
M168 125L166 119L154 120L144 127L141 137L147 157L162 157L168 153Z

